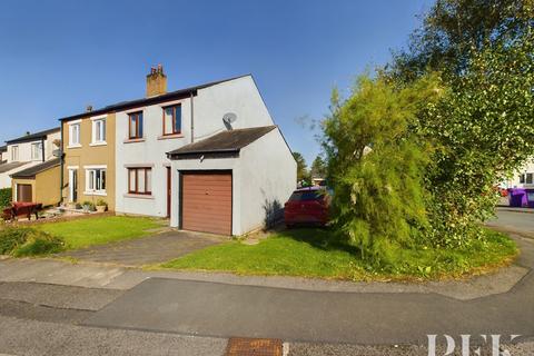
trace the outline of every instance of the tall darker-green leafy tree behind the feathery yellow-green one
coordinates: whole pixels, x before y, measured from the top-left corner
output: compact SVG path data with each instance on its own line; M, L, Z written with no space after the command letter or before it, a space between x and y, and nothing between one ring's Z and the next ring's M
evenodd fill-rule
M443 100L418 116L433 142L428 206L437 246L484 235L495 185L534 155L534 1L436 0L386 72L398 87L439 71Z

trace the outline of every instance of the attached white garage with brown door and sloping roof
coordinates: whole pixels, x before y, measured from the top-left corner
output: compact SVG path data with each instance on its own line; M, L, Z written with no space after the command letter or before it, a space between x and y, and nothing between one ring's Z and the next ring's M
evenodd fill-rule
M296 161L276 126L228 128L167 152L170 226L241 236L283 216Z

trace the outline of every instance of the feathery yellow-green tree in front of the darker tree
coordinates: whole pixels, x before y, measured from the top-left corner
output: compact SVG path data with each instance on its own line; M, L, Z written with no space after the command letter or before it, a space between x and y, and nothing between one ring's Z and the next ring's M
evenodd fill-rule
M347 100L334 95L324 121L334 224L377 264L396 247L413 246L428 226L423 178L431 149L413 127L416 113L439 97L437 86L429 76L396 90L363 76Z

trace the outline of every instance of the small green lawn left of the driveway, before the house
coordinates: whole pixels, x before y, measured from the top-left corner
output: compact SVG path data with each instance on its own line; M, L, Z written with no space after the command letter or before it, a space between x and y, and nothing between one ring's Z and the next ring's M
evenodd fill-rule
M82 248L147 236L148 229L161 227L144 217L109 216L38 225L39 230L59 237L67 249Z

